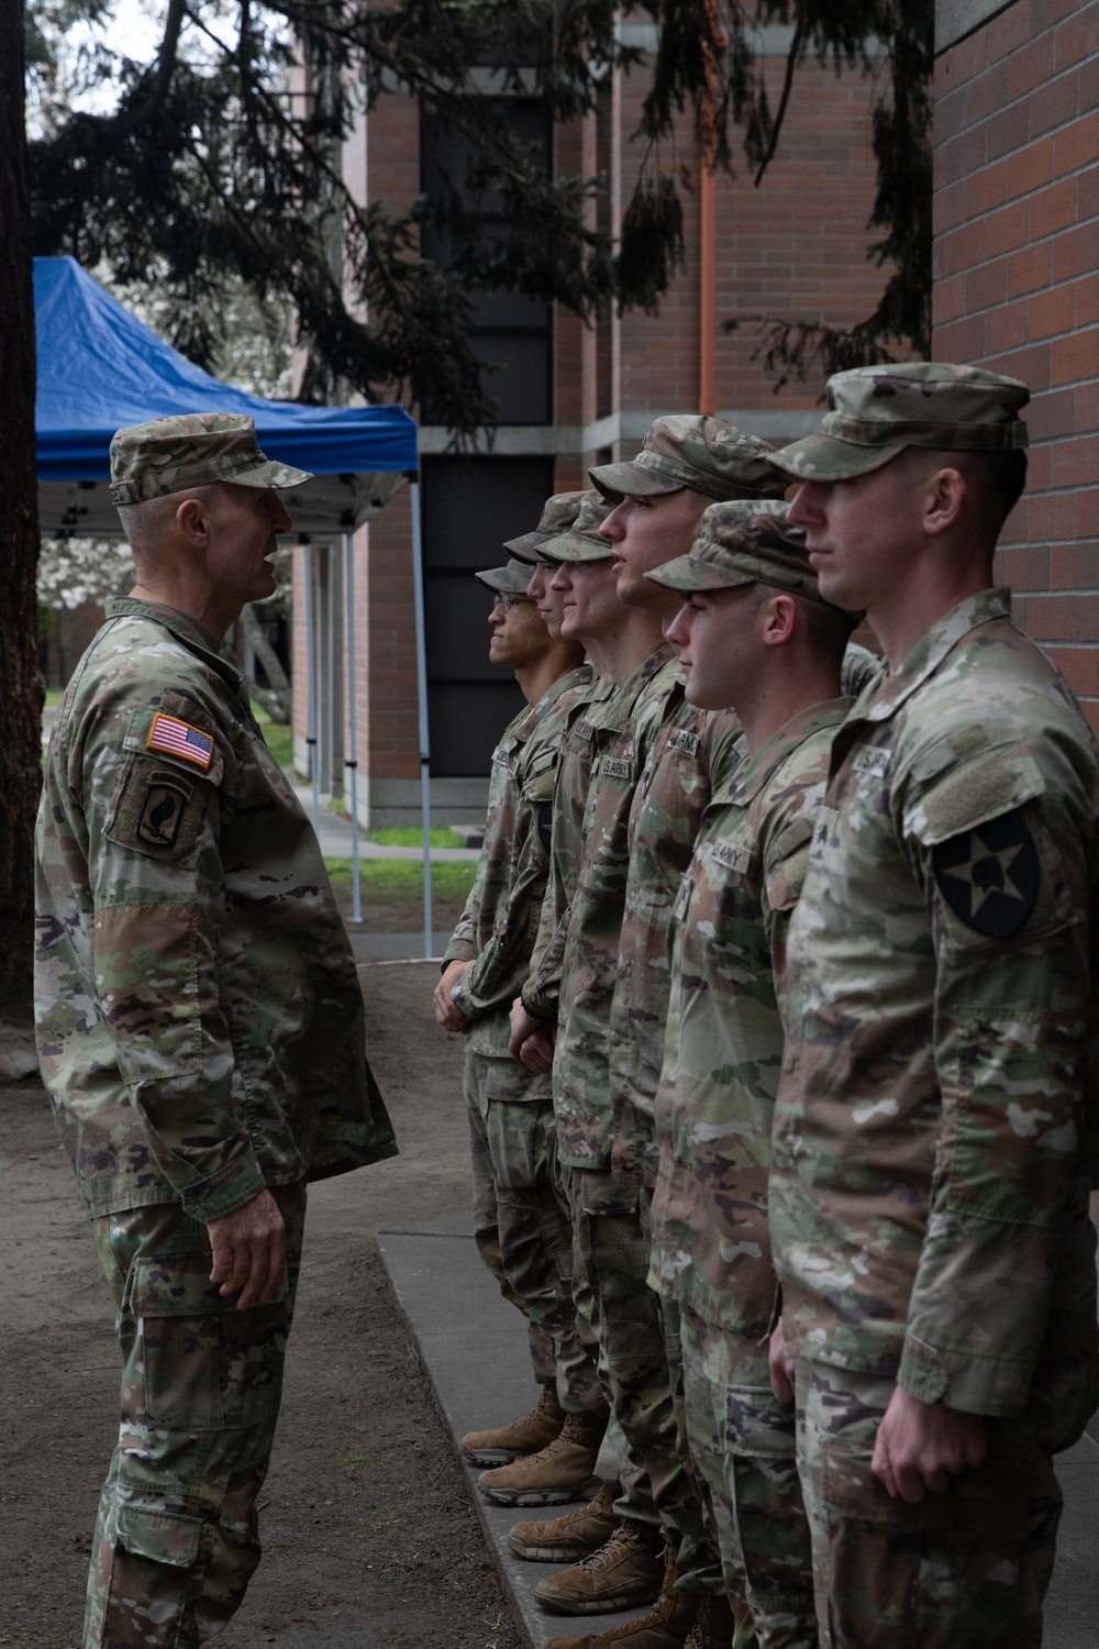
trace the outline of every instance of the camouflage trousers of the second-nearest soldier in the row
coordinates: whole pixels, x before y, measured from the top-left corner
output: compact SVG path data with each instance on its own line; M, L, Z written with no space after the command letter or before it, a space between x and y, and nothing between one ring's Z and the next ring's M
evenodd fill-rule
M812 1547L794 1405L771 1392L766 1341L694 1311L679 1324L687 1443L710 1491L725 1591L743 1642L816 1649Z

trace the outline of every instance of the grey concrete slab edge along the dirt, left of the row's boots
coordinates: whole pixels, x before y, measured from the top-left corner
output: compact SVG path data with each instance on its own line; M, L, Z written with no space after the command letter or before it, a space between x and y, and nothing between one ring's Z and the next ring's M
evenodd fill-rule
M524 1519L555 1517L570 1507L549 1507L542 1514L534 1507L494 1506L476 1487L481 1468L470 1466L458 1448L466 1431L516 1420L537 1397L522 1319L499 1296L468 1222L379 1232L377 1252L527 1649L545 1649L550 1637L601 1633L631 1619L631 1614L547 1614L539 1608L535 1585L564 1565L517 1558L507 1545L507 1530Z

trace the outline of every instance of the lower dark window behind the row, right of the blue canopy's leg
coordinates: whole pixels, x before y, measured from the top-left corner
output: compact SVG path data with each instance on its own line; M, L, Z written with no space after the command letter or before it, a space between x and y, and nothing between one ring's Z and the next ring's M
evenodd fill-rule
M432 773L479 778L522 693L488 661L493 595L475 572L503 567L554 490L552 458L423 458L423 608Z

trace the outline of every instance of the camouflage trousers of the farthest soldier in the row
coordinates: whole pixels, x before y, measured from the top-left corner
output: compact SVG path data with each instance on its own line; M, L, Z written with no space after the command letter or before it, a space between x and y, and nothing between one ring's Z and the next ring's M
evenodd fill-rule
M504 1299L527 1319L534 1379L557 1387L568 1413L603 1413L596 1347L572 1298L572 1217L557 1164L549 1077L466 1049L473 1235Z

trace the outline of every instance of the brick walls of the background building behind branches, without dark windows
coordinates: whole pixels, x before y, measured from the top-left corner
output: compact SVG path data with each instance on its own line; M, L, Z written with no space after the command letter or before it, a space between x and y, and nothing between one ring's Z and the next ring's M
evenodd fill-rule
M789 33L789 31L786 31ZM784 56L783 31L768 56L771 104L778 104ZM776 43L771 41L774 46ZM600 119L559 127L559 173L610 175L610 206L592 204L611 228L621 219L644 158L633 142L648 84L644 68L616 76ZM717 320L737 318L735 333L717 331L717 406L741 416L746 427L789 439L819 416L822 379L789 384L774 394L776 374L760 359L758 315L849 325L872 312L886 274L868 262L867 219L873 203L870 107L873 79L835 76L806 63L797 71L779 152L761 188L745 163L733 180L717 181ZM674 148L674 152L672 152ZM689 122L657 160L685 167L697 178L699 160ZM344 152L344 176L366 200L404 206L420 186L419 117L400 96L379 99ZM554 323L554 432L501 430L498 452L555 450L555 486L585 485L587 465L610 442L615 455L633 455L656 412L694 411L699 404L699 196L684 193L685 267L676 275L659 315L608 313L598 328L559 312ZM580 450L577 429L620 414L598 447ZM791 417L794 424L791 424ZM801 424L796 420L801 419ZM771 420L771 422L768 422ZM778 425L778 427L776 427ZM572 445L547 449L572 430ZM587 439L587 437L585 437ZM512 440L512 445L507 442ZM517 440L517 444L514 444ZM527 445L522 445L522 442ZM358 760L361 793L371 787L414 782L419 775L412 571L407 493L399 495L369 528L356 534L356 608L359 622ZM295 622L295 732L305 734L305 633ZM453 810L455 818L461 810Z

